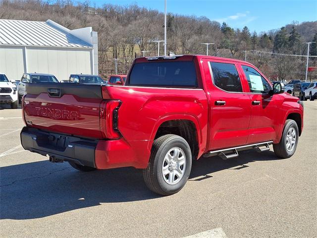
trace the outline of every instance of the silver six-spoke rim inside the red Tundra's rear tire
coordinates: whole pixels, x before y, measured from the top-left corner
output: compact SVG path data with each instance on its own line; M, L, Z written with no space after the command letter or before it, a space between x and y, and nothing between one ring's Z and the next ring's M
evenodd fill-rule
M162 176L168 184L179 182L186 170L186 156L179 147L171 148L165 155L162 164Z

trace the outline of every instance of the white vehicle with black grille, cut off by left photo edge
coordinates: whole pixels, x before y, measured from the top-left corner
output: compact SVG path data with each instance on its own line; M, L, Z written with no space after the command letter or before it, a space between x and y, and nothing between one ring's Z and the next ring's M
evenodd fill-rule
M12 109L17 109L19 103L16 85L3 73L0 73L0 103L10 104Z

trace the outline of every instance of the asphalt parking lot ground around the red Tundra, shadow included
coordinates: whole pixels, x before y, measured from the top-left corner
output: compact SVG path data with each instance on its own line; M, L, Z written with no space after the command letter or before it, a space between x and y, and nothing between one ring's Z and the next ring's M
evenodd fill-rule
M140 170L82 173L24 151L21 109L0 106L0 236L317 237L317 101L304 104L294 156L202 158L168 197L151 192Z

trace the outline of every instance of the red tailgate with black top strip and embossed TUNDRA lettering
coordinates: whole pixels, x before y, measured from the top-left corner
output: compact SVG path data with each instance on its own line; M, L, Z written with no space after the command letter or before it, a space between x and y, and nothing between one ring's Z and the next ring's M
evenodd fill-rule
M102 138L101 85L27 84L24 120L28 126L63 134Z

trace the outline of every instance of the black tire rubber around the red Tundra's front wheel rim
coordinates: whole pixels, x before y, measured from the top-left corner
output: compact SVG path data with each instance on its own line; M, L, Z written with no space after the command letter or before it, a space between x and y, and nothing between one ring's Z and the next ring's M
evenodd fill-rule
M286 139L287 139L287 133L289 132L289 130L291 128L295 129L296 141L295 141L293 149L291 151L289 151L286 148ZM284 158L284 159L291 157L296 151L298 137L299 137L299 131L298 131L297 123L295 122L295 120L287 119L285 121L283 134L282 134L282 138L281 138L280 142L278 144L273 144L273 150L274 150L275 155L280 157L280 158Z

